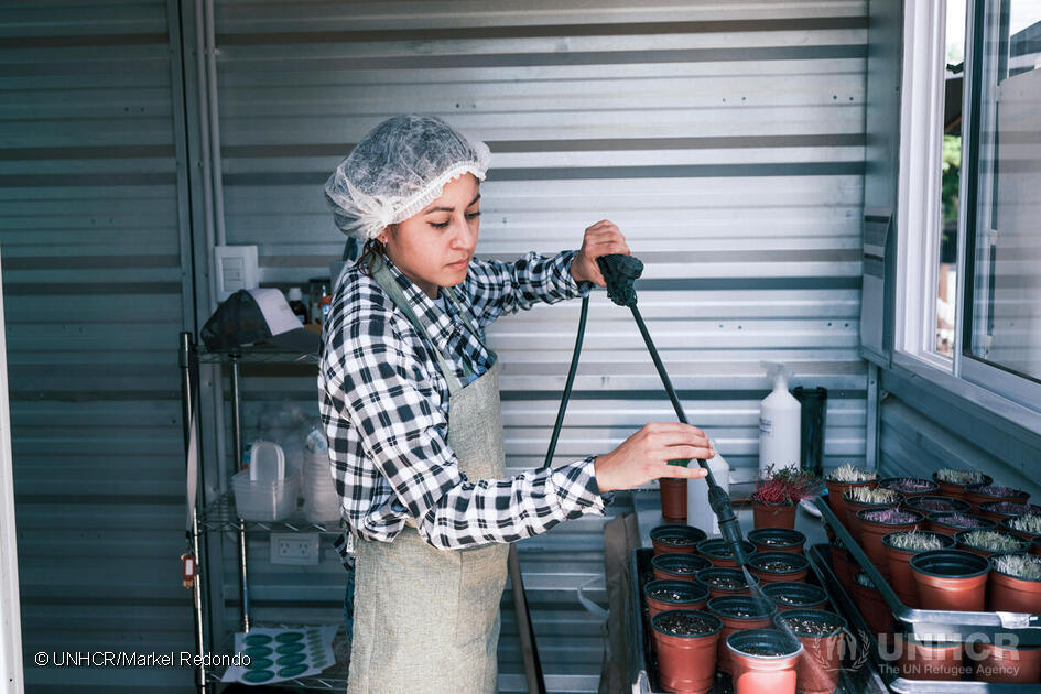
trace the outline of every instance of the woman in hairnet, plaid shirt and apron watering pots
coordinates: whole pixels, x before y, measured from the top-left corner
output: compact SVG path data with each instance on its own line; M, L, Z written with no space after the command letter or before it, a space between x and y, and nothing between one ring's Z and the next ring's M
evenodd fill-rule
M365 240L334 290L318 375L356 557L351 694L494 692L508 543L603 513L611 490L703 477L668 460L713 456L701 430L652 423L610 453L506 476L484 328L604 286L595 259L629 249L604 220L578 251L475 259L488 160L442 120L401 116L326 184L337 226Z

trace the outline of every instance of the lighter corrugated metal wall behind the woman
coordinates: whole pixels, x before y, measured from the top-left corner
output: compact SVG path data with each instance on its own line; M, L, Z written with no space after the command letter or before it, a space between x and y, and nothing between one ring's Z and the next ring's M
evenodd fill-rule
M575 248L600 218L620 226L647 264L641 311L673 382L737 480L757 465L761 359L828 388L826 465L863 464L866 13L823 0L217 2L227 242L259 245L265 284L327 273L343 249L321 195L328 172L382 118L440 115L492 150L478 254ZM511 469L541 462L577 315L577 302L543 306L491 329ZM316 411L313 381L280 373L248 372L247 424L286 398ZM603 293L575 388L561 460L674 418L631 318ZM601 573L599 533L589 521L522 544L556 691L595 687L599 640L573 587ZM262 538L251 556L256 615L337 618L329 552L305 577L267 564ZM225 581L234 623L230 564ZM506 612L509 675L520 659Z

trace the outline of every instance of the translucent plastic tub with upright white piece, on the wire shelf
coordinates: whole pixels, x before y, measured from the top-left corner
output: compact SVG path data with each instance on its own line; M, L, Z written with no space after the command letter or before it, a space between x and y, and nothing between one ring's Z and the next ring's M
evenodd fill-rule
M249 469L231 477L235 508L242 520L273 521L296 510L300 482L285 476L285 455L279 444L253 443L249 452Z

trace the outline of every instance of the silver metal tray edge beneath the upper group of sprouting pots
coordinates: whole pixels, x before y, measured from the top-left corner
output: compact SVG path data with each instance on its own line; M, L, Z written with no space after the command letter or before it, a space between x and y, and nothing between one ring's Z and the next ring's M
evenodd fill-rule
M926 636L931 640L966 641L968 637L985 636L993 641L995 633L1015 633L1021 646L1041 646L1041 615L1027 612L995 612L995 611L954 611L936 609L915 609L908 607L889 585L879 571L860 547L860 543L853 539L846 527L838 522L832 507L823 497L815 499L821 511L822 520L843 541L846 549L860 565L860 570L868 575L875 586L882 594L897 621L903 625L908 635ZM828 568L828 573L831 570ZM1041 691L1041 690L1039 690Z

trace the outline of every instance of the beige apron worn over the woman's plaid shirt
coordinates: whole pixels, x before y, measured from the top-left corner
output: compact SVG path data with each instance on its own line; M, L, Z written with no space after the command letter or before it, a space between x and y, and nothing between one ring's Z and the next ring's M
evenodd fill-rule
M387 267L373 278L434 347L448 382L448 445L467 479L506 475L499 362L463 386ZM484 344L455 292L443 289ZM355 541L349 694L492 694L508 544L437 550L406 527L393 542Z

